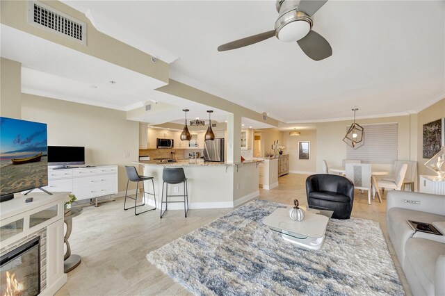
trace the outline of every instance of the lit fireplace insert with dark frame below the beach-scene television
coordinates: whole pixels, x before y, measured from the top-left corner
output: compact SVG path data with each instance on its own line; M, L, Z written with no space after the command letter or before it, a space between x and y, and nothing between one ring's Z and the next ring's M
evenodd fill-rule
M40 236L0 257L0 295L40 294Z

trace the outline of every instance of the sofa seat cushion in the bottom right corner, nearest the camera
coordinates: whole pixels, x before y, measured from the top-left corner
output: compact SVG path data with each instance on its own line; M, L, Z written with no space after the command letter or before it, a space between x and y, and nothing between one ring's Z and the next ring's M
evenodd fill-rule
M407 280L410 285L419 283L422 288L412 287L413 292L424 290L428 295L434 295L436 261L439 256L445 255L445 245L424 238L410 238L405 245L405 254L405 265L412 268L410 272L405 272ZM416 279L409 278L413 276Z

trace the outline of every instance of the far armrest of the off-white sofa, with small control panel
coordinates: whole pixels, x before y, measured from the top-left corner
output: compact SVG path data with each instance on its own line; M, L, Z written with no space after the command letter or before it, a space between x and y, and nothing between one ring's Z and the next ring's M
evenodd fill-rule
M387 213L390 208L445 215L445 195L391 190L387 193Z

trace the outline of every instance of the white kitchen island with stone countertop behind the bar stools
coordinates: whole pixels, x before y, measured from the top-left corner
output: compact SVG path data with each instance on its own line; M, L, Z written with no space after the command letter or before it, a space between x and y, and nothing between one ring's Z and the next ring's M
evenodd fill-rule
M161 201L162 171L164 167L183 167L188 179L189 207L193 208L233 208L259 195L259 168L261 161L243 163L212 163L202 159L161 163L156 161L135 161L143 165L144 176L154 177L156 202ZM145 190L151 192L152 182L145 181ZM184 194L182 184L170 185L170 195ZM165 194L165 193L164 193ZM181 197L177 197L181 200ZM175 200L170 197L169 200ZM154 206L152 196L147 196L149 205ZM183 204L169 204L168 209L184 210Z

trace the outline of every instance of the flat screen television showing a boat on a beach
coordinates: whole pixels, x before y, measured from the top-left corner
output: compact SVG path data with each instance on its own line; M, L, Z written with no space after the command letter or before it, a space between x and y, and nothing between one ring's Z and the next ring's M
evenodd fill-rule
M0 201L48 185L47 124L0 117Z

